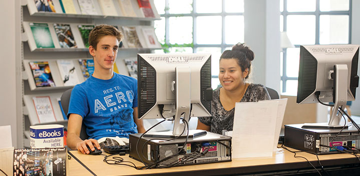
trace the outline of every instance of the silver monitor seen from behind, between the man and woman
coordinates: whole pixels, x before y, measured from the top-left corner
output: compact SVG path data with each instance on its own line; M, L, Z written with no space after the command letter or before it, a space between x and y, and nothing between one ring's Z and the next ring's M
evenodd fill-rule
M174 117L179 136L180 118L211 116L211 101L210 54L138 54L139 119Z

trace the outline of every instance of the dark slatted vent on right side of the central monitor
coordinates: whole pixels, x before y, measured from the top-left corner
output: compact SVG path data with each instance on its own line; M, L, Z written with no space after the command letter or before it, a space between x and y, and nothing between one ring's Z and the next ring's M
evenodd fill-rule
M206 100L206 89L211 88L211 57L205 62L200 71L201 104L211 113L211 101Z

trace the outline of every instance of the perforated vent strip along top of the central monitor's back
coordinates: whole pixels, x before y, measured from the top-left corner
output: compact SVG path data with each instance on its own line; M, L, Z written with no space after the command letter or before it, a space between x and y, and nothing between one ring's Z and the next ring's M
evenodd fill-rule
M166 63L188 63L193 61L202 61L204 56L148 56L148 59L153 62L166 62Z

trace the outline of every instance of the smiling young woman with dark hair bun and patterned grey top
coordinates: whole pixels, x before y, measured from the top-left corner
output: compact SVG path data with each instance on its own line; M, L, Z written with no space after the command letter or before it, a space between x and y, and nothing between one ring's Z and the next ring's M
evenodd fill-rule
M222 87L213 91L211 117L199 117L197 129L222 134L232 130L236 102L268 100L270 96L261 84L248 83L254 53L244 44L236 44L220 57L219 80Z

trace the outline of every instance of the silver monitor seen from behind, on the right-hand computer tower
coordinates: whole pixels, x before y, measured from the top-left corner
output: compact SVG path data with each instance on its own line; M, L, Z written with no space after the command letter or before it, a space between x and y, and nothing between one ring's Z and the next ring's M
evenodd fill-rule
M359 45L300 46L297 103L333 102L328 123L314 128L342 128L339 107L355 100ZM317 99L318 96L318 99ZM319 100L319 101L318 101ZM306 126L309 127L309 126Z

